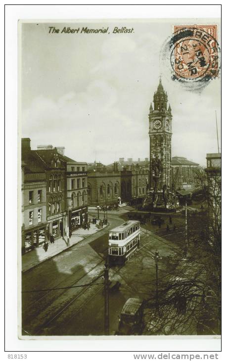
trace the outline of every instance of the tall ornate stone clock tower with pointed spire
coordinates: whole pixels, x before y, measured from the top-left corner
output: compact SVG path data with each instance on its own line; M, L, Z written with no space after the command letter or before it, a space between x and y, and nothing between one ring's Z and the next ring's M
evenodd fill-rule
M149 113L150 137L150 192L169 190L171 186L171 138L172 114L167 109L167 92L164 91L161 78L154 93ZM160 198L160 197L159 197Z

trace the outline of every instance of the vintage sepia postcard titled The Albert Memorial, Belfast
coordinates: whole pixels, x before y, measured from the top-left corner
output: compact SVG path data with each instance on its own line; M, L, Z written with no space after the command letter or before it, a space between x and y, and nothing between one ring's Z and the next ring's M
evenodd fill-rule
M220 338L220 19L18 33L18 337Z

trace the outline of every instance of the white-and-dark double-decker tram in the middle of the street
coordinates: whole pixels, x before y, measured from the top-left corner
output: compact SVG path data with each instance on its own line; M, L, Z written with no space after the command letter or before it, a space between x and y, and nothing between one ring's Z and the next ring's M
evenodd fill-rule
M139 248L140 222L128 221L109 231L110 264L123 265Z

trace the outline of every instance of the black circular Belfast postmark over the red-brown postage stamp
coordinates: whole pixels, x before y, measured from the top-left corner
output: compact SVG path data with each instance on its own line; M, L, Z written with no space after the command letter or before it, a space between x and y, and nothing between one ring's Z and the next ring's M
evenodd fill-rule
M163 46L160 60L171 69L173 80L194 90L218 77L220 53L217 25L175 26L173 36Z

